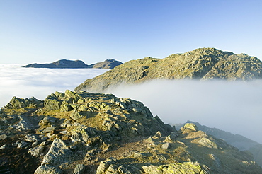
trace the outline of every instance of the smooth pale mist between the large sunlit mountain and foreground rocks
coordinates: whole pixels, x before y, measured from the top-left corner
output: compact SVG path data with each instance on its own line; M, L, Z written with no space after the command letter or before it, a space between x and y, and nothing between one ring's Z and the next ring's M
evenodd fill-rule
M262 81L154 80L107 92L140 100L166 123L199 122L262 143Z

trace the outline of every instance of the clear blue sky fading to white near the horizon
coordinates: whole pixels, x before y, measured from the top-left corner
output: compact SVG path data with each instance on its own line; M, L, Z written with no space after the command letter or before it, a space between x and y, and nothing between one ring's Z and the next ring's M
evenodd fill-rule
M0 1L0 63L164 58L216 47L262 59L262 1Z

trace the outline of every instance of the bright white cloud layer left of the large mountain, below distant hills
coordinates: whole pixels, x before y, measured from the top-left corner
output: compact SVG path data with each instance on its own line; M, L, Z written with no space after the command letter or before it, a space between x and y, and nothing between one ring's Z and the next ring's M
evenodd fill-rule
M0 64L0 107L13 96L44 100L55 91L74 90L86 79L91 79L108 69L33 69L21 65Z

